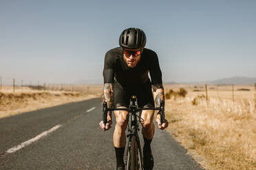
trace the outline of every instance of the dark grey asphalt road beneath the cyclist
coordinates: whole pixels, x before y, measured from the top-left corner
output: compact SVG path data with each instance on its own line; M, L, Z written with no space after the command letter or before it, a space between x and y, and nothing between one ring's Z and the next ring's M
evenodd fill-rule
M107 132L100 130L100 101L90 99L0 119L0 169L115 169L114 127ZM6 153L56 125L61 127ZM166 131L156 128L151 147L154 169L200 169Z

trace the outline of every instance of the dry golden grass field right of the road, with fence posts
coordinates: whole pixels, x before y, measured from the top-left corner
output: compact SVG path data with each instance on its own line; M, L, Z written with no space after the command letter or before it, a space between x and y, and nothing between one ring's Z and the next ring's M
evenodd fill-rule
M208 86L208 102L204 86L164 88L187 90L166 100L169 132L205 169L256 169L254 86Z

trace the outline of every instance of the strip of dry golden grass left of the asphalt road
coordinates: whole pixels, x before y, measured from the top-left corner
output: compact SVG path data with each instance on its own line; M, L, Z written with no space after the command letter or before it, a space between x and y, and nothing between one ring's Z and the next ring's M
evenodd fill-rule
M2 86L0 90L0 119L14 114L38 110L74 101L101 96L101 86L51 86L42 88Z

